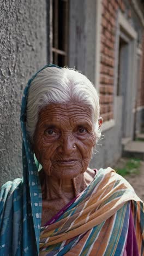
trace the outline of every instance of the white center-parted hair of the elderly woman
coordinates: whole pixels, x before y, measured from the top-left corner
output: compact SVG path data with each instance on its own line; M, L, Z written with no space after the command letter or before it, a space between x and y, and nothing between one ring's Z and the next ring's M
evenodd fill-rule
M41 108L54 103L80 102L92 110L93 129L100 138L99 97L89 79L68 67L47 67L40 71L31 82L27 98L26 130L33 142L35 127Z

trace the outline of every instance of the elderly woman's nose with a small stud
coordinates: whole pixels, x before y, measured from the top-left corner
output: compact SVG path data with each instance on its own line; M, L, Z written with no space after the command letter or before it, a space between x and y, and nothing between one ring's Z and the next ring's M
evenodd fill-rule
M63 153L65 155L70 155L71 153L74 153L76 147L75 147L75 140L72 135L64 136L61 139L60 146L59 146L59 153Z

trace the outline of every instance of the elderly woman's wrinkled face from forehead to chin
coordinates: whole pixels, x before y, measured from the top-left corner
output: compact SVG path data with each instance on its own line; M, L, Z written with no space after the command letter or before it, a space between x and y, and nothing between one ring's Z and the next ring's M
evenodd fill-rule
M48 176L74 178L87 170L95 139L89 108L50 104L40 110L34 152Z

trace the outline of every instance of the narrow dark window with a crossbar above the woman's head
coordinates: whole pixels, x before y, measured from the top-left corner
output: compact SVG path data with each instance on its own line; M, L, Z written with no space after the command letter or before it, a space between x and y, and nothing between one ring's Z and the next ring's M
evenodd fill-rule
M68 65L69 1L52 1L52 57L53 64Z

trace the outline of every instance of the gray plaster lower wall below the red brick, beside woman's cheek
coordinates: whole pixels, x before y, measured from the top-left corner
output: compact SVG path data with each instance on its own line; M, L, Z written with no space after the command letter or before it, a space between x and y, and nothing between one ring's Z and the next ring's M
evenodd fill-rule
M113 166L122 154L122 97L116 100L115 126L102 132L101 139L96 146L96 154L90 163L91 168L106 168Z

